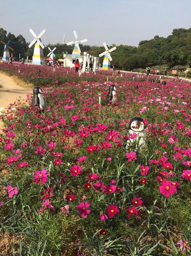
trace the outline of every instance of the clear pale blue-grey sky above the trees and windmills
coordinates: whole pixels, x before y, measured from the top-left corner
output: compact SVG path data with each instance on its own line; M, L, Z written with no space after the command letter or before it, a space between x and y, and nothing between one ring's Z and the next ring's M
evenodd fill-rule
M0 27L27 42L66 43L87 38L89 45L132 45L173 28L191 27L191 0L0 0Z

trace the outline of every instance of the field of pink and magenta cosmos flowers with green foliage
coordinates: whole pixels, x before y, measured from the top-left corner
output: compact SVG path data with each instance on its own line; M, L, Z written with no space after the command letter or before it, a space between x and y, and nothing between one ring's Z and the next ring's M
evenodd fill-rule
M28 96L1 116L3 255L188 255L190 83L38 69L0 66L45 100L44 111ZM146 146L126 148L136 116Z

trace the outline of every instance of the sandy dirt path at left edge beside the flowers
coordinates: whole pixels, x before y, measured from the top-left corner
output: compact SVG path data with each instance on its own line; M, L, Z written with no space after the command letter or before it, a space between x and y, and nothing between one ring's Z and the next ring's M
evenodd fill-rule
M24 102L26 94L32 94L32 89L23 88L16 84L10 76L0 73L0 114L6 110L10 103L14 103L16 99ZM3 122L0 120L0 132L2 128Z

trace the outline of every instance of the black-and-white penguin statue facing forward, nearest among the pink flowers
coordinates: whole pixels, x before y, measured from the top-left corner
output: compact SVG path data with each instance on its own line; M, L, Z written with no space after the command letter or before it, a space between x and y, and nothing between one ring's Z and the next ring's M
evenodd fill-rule
M126 150L128 150L129 148L131 148L132 145L134 145L134 143L136 144L136 150L138 149L142 149L143 147L145 147L146 145L146 133L145 133L145 126L143 123L143 119L141 117L134 117L131 119L130 123L129 123L129 137L130 134L138 134L138 136L133 139L129 139L127 140L126 143Z

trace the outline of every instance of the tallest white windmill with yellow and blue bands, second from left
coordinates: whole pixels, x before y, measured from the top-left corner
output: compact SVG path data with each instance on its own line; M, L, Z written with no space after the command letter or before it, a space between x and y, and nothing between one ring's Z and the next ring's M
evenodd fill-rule
M35 43L32 63L42 65L42 62L44 62L44 45L41 43L40 37L44 35L46 30L42 30L42 32L38 36L34 33L32 29L30 29L29 31L34 36L34 40L30 43L29 48L31 48L31 46Z

